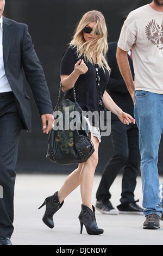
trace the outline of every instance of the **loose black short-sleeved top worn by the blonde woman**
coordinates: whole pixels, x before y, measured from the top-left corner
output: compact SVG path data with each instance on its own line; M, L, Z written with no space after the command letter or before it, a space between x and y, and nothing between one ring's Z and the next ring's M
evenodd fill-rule
M74 70L74 65L77 63L79 59L83 59L86 64L88 71L80 75L77 82L75 83L76 90L76 99L79 106L83 109L83 111L98 111L99 108L99 89L96 84L96 70L95 65L87 62L84 59L84 56L78 58L77 56L77 48L69 46L61 60L61 75L70 75ZM101 78L100 81L100 89L101 94L103 96L105 88L109 81L109 71L105 69L105 72L102 68L98 69L99 76ZM95 119L90 120L91 125L98 126L95 123Z

